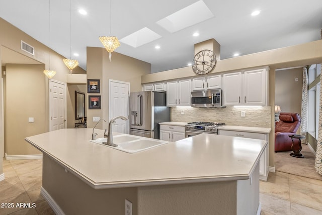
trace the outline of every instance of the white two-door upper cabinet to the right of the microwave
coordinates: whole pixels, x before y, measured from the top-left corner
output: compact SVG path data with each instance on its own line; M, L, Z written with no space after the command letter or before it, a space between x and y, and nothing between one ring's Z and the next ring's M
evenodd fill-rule
M267 105L267 69L223 74L223 105Z

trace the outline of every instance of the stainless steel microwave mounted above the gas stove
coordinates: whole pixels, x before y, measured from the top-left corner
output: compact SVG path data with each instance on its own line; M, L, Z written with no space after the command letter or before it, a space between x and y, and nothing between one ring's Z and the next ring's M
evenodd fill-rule
M202 90L191 92L191 106L193 107L223 107L222 90Z

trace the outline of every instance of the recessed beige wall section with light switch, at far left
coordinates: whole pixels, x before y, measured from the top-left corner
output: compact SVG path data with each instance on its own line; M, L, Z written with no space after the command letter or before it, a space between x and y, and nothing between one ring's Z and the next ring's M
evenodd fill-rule
M40 154L24 138L46 131L44 65L7 64L5 146L7 155ZM33 117L34 123L28 118Z

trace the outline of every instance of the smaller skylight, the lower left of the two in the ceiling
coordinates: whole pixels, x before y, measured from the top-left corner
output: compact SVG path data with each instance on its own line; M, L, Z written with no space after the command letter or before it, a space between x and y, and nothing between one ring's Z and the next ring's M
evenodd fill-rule
M136 48L153 40L159 39L160 37L160 35L145 27L120 39L120 42Z

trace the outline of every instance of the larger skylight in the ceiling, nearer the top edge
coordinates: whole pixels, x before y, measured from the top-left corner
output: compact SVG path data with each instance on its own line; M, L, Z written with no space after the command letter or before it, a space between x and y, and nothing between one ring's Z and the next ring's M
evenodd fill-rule
M195 14L197 16L192 16ZM201 23L212 17L214 17L212 12L209 10L206 4L200 0L162 20L157 21L156 24L163 27L167 31L174 33L197 23Z

